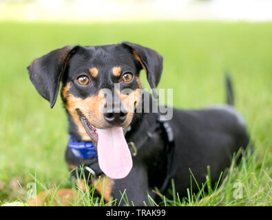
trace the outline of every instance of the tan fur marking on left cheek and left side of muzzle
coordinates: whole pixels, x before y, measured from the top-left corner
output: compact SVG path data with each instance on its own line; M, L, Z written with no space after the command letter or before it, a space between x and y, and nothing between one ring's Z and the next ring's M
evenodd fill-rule
M62 91L63 98L65 98L65 107L72 116L74 123L78 127L79 135L81 135L82 140L90 141L90 136L87 135L83 124L79 120L79 115L76 109L80 109L85 117L92 122L92 125L99 127L103 122L103 114L101 108L104 103L103 92L100 91L97 96L90 96L88 98L82 99L79 97L74 97L68 94L70 89L70 83L68 83Z

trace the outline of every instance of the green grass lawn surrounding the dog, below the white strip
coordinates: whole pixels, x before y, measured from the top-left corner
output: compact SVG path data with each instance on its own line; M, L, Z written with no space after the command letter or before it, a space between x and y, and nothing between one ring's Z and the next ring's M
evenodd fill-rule
M207 177L198 194L188 189L187 197L182 198L176 194L173 181L173 188L169 189L173 196L161 195L159 204L272 205L272 23L2 22L0 32L0 203L25 202L30 182L36 184L38 192L72 186L64 161L65 112L60 98L50 109L49 103L36 92L26 71L29 63L64 45L131 41L154 48L164 56L159 87L174 89L174 107L200 108L224 103L223 72L229 70L236 108L246 118L255 143L253 155L246 153L239 166L232 165L217 188L209 184ZM145 78L142 79L147 87ZM233 198L236 182L242 184L242 199ZM203 192L203 187L207 192ZM87 195L81 190L78 193L74 206L105 205L99 198L90 200L92 193ZM129 195L123 195L133 205Z

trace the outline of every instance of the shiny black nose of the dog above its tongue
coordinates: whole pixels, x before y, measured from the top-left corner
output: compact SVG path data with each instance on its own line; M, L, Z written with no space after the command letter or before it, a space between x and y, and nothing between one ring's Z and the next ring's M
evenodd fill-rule
M105 108L104 118L110 124L121 124L127 118L127 108L123 104Z

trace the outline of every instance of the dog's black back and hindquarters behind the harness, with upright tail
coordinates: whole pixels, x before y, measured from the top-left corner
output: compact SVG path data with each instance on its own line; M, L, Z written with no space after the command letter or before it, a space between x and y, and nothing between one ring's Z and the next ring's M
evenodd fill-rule
M234 109L233 86L226 76L227 103L200 110L174 109L169 121L175 136L174 179L176 190L185 192L193 175L198 184L204 183L207 166L211 168L211 181L231 164L234 153L246 148L249 135L243 116ZM191 171L190 171L190 170Z

